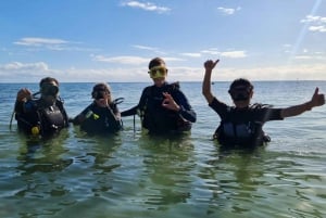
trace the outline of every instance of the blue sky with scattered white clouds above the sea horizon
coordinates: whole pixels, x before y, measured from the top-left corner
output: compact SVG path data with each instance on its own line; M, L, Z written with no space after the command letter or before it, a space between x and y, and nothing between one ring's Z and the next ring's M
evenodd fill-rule
M326 80L326 0L2 0L0 82Z

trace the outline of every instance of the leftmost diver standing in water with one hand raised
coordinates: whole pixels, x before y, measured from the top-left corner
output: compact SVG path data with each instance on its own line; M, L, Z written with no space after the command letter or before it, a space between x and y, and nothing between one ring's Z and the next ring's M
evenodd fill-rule
M47 137L68 127L68 118L63 101L59 98L59 81L46 77L40 80L39 88L35 94L26 88L17 92L15 119L20 131ZM40 98L36 99L39 93Z

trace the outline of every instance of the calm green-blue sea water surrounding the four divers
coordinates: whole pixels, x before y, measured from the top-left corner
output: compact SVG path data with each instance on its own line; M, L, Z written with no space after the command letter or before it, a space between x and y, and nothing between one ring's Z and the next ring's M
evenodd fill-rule
M71 117L86 107L93 84L62 84ZM121 111L138 103L148 84L111 84ZM326 81L254 82L254 102L289 106L311 99ZM326 217L326 107L265 130L272 142L254 152L221 152L211 141L217 115L200 82L181 82L198 114L191 134L150 139L139 118L125 130L89 138L71 127L46 142L16 133L9 123L16 91L37 84L0 84L0 217ZM230 103L228 82L214 93Z

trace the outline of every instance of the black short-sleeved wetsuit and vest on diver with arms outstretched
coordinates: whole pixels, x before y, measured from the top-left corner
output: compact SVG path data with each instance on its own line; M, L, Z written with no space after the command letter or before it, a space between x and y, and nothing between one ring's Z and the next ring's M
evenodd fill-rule
M269 140L263 131L263 125L269 120L283 119L280 108L271 108L262 104L236 108L214 98L210 106L221 117L214 137L222 145L230 148L262 145Z

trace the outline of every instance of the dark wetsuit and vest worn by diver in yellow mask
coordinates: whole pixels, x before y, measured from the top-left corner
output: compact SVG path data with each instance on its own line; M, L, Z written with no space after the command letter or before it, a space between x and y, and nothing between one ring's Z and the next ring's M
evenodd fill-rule
M162 106L164 100L163 92L172 95L174 101L180 106L179 112L174 112ZM138 105L122 112L122 116L130 116L140 113L142 127L149 133L171 133L183 132L191 129L191 123L196 121L196 113L191 108L187 98L179 90L178 84L162 87L150 86L142 90Z

